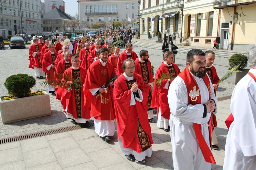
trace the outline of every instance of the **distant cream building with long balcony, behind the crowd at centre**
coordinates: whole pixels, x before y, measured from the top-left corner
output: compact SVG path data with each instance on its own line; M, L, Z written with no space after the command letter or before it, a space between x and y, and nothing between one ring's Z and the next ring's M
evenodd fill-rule
M78 0L79 20L82 29L101 23L102 29L109 28L113 21L126 27L138 28L138 0Z

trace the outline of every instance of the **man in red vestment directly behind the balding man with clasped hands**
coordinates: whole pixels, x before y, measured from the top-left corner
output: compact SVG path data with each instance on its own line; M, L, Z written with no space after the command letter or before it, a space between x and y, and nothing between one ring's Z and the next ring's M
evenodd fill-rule
M116 74L120 75L123 73L123 69L122 69L122 65L123 62L127 59L130 58L132 60L136 60L136 58L138 58L138 55L136 54L136 52L132 51L132 44L128 43L125 45L125 51L122 52L120 54L120 56L118 57L118 61L117 61L117 71Z

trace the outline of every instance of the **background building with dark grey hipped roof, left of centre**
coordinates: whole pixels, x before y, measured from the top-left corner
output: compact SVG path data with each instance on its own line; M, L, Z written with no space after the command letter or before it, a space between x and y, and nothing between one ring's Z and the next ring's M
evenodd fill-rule
M74 19L65 12L60 11L59 8L53 10L42 16L43 32L65 32L68 31L67 25L70 20Z

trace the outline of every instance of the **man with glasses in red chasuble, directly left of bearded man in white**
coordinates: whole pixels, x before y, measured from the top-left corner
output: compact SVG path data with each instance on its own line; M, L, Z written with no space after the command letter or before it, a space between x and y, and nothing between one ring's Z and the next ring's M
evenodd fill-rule
M166 51L163 54L164 62L156 70L155 83L160 79L163 73L169 73L173 79L162 79L161 85L154 85L151 107L157 110L157 127L163 129L166 132L170 131L169 119L170 119L170 107L168 104L168 89L172 81L180 74L179 67L173 63L174 56L171 51Z

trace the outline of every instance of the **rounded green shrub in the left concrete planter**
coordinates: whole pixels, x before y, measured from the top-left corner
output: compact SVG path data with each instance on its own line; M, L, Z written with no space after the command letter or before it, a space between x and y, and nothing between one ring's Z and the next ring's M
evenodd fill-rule
M9 95L17 98L27 97L30 93L30 88L35 85L35 79L28 74L17 74L8 77L4 86L7 88Z

